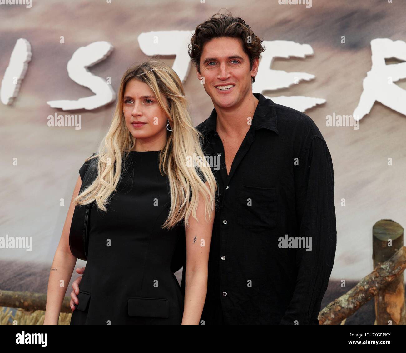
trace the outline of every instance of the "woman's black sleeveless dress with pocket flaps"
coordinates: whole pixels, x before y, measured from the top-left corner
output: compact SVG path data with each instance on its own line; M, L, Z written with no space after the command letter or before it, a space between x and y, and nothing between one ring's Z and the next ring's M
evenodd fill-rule
M184 223L162 230L171 205L160 151L130 151L107 213L91 208L89 253L71 325L180 325L183 296L170 269ZM89 161L80 168L83 180Z

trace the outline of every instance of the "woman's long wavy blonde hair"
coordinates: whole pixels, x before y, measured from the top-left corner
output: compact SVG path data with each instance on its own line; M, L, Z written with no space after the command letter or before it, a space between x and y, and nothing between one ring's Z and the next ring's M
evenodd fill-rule
M173 130L167 131L166 145L160 152L160 173L168 175L171 191L171 208L162 228L170 229L183 219L185 228L188 227L190 214L196 219L199 195L205 203L205 220L207 221L207 215L211 220L217 184L199 143L199 140L203 141L203 135L192 124L188 101L179 77L171 67L158 60L132 65L125 71L111 126L99 145L99 151L86 159L98 158L97 177L74 199L74 204L84 205L95 201L99 209L107 212L108 197L113 191L117 191L123 156L127 157L129 151L135 147L136 139L128 130L123 114L125 87L134 78L148 84L160 108L169 118ZM191 158L196 160L195 166L190 166ZM204 175L208 187L199 175Z

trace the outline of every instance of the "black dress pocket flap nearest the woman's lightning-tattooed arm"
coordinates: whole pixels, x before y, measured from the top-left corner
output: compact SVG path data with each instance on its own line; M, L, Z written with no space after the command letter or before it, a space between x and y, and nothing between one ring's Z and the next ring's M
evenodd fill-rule
M168 299L141 297L128 298L128 315L168 318Z

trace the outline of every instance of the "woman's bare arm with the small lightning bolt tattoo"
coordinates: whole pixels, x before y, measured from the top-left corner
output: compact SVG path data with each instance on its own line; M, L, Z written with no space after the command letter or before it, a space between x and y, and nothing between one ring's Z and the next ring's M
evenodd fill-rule
M205 183L208 186L208 183ZM182 325L199 325L207 294L207 267L212 240L214 210L211 221L205 221L205 205L199 198L196 219L189 217L186 229L186 282Z

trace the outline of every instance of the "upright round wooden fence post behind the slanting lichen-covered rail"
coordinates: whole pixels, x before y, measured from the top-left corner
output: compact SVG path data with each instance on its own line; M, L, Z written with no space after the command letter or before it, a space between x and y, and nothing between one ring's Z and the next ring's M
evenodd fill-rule
M403 246L403 228L391 219L381 219L372 228L374 268L389 260ZM380 290L375 300L377 325L406 325L406 303L403 273Z

